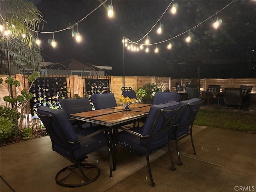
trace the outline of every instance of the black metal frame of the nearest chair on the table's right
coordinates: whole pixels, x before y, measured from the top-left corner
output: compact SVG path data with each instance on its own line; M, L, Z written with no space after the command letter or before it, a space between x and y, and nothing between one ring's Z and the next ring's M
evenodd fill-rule
M162 146L161 148L158 148L157 150L154 150L152 152L149 152L149 148L150 148L150 143L152 140L156 140L156 139L160 139L164 136L158 136L160 135L163 131L168 131L168 151L170 153L170 161L171 161L171 166L172 166L172 170L175 171L176 168L174 167L174 163L173 163L173 160L172 160L172 153L171 153L171 148L170 148L170 132L172 130L172 127L175 126L174 125L174 121L175 121L175 118L177 116L177 114L179 113L180 109L182 108L182 106L180 106L179 108L177 109L174 109L174 110L163 110L161 109L157 116L156 116L156 119L154 120L154 123L152 125L152 128L150 130L150 134L148 135L145 135L143 136L142 134L140 133L137 133L137 132L134 132L132 130L129 130L129 129L126 129L126 128L122 128L122 127L118 127L118 129L121 129L123 131L126 131L126 132L129 132L131 134L134 134L140 138L148 138L148 143L147 143L147 146L146 146L146 162L147 162L147 168L148 168L148 174L149 174L149 178L150 178L150 184L151 186L155 186L156 184L154 183L153 181L153 177L152 177L152 172L151 172L151 168L150 168L150 161L149 161L149 156L150 154L153 154L154 152L164 148L165 146ZM168 118L166 116L166 114L168 113L172 113L172 112L176 112L176 114L174 114L172 117ZM156 122L160 116L160 114L162 114L164 116L164 125L162 126L161 130L158 132L158 134L156 134L154 137L152 137L152 134L153 134L153 131L154 131L154 127L156 125ZM166 136L166 135L165 135ZM115 157L114 157L115 158ZM114 165L114 167L116 167L116 165Z

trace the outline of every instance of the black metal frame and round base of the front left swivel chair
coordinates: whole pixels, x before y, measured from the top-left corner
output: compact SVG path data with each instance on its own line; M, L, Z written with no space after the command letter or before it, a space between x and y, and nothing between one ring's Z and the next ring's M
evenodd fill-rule
M64 132L62 131L62 134L64 136L64 138L66 138L67 140L67 143L66 144L62 144L60 142L58 142L58 136L55 135L55 133L51 130L50 128L50 124L53 121L55 121L55 123L59 126L59 130L62 130L60 128L60 125L58 124L58 122L56 122L56 120L53 118L52 115L48 115L48 116L45 116L45 115L40 115L38 114L38 117L41 118L41 117L44 117L44 118L50 118L50 121L47 123L47 124L44 124L45 128L46 128L46 131L48 132L49 136L50 136L50 139L52 141L52 149L54 150L54 146L53 146L53 143L58 143L59 145L62 145L62 146L65 146L65 147L68 147L69 148L69 153L70 153L70 157L71 158L68 158L64 155L62 155L60 152L56 151L58 154L60 154L61 156L63 156L64 158L68 159L70 162L74 163L70 166L67 166L63 169L61 169L55 176L55 180L56 180L56 183L59 184L59 185L62 185L62 186L66 186L66 187L79 187L79 186L84 186L84 185L87 185L87 184L90 184L91 182L94 182L99 176L100 176L100 168L98 168L98 166L96 165L92 165L92 164L87 164L87 163L82 163L86 158L88 158L88 156L84 156L82 158L79 158L79 159L74 159L73 157L73 152L72 152L72 149L70 147L70 144L77 144L77 143L80 143L82 142L83 140L86 140L96 134L99 134L101 132L105 132L108 139L110 140L110 144L109 144L109 148L110 148L110 178L113 177L112 175L112 165L113 165L113 144L112 144L112 140L110 139L110 136L108 134L108 131L107 131L107 128L102 128L100 130L97 130L95 132L93 132L92 134L89 134L87 136L84 136L83 138L80 138L78 139L76 142L71 142L71 141L68 141L66 135L64 134ZM86 174L84 173L84 171L82 170L82 168L84 169L95 169L96 170L96 176L94 176L93 178L88 178L86 176ZM76 170L79 170L79 173L76 172ZM59 178L60 174L62 174L63 172L65 172L66 170L69 170L70 173L65 176L64 178ZM80 178L81 178L81 183L78 183L78 184L66 184L65 183L65 180L67 178L69 178L70 176L72 176L72 174L76 174L78 175ZM85 182L84 182L85 181Z

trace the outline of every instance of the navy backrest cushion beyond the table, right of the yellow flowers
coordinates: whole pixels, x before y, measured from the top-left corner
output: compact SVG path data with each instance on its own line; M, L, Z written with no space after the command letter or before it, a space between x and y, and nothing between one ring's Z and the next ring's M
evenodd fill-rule
M180 95L176 92L156 92L153 104L165 103L168 101L179 101Z

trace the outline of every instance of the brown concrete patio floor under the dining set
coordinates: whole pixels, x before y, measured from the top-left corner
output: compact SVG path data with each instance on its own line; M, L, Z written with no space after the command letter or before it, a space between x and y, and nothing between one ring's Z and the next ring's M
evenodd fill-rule
M146 159L117 148L117 170L109 178L108 150L102 148L88 155L97 164L100 177L93 183L78 188L56 184L56 173L70 164L52 151L50 138L38 138L1 147L1 191L9 192L120 192L120 191L236 191L239 186L252 190L256 187L256 134L194 126L192 152L189 138L180 140L183 166L178 166L174 142L172 155L176 171L170 170L168 149L151 156L152 174L156 186L150 186Z

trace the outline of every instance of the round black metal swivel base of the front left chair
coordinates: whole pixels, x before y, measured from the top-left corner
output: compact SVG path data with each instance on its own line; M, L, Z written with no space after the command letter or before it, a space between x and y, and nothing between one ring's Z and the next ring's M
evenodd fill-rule
M86 169L90 169L88 176L84 173ZM79 187L94 182L99 176L100 168L98 168L98 166L86 163L75 163L60 170L56 174L55 180L57 184L62 186ZM76 181L79 182L77 183Z

